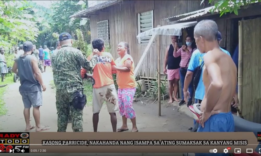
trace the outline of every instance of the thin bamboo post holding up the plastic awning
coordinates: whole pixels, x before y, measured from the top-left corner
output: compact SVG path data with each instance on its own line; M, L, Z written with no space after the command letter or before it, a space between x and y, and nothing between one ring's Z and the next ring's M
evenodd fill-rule
M158 35L158 115L161 116L161 53Z

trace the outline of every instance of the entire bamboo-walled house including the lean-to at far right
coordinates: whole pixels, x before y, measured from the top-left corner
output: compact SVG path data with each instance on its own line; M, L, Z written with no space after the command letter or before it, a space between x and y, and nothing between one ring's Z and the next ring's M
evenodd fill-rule
M212 4L213 5L213 4ZM220 17L211 14L207 1L104 1L71 17L89 18L91 38L103 38L111 46L111 53L117 58L117 44L129 43L134 63L138 64L151 36L137 39L137 35L157 27L181 22L215 20L222 34L221 47L231 55L239 46L239 100L240 109L245 119L261 123L261 5L260 3L240 9L238 15L233 13ZM193 33L193 27L183 29L180 42L184 36ZM158 40L158 41L157 41ZM160 66L166 47L171 43L169 36L154 40L139 69L140 77L156 77L158 68L157 47L160 45ZM163 74L161 74L163 75Z

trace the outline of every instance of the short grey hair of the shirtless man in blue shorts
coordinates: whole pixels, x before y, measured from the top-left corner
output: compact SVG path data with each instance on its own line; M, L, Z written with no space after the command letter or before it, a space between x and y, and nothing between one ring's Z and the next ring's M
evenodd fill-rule
M207 41L217 40L218 27L213 20L202 20L194 28L195 36L202 36Z

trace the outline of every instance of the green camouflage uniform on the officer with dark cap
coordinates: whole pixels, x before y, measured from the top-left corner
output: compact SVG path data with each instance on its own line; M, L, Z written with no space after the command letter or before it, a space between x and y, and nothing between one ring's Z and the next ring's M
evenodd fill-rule
M58 114L57 132L66 132L70 111L73 131L82 132L83 111L74 108L70 102L73 101L76 92L83 93L81 66L86 70L92 70L97 62L97 57L93 57L89 62L80 50L64 45L52 56L52 60Z

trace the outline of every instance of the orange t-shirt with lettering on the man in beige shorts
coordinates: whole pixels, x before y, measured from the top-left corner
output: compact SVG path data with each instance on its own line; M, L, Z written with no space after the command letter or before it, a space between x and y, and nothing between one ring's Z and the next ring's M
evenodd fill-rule
M90 60L93 54L91 54L87 59ZM113 57L108 52L101 52L98 56L98 62L93 68L93 88L100 88L110 84L114 84L111 66L116 65Z

